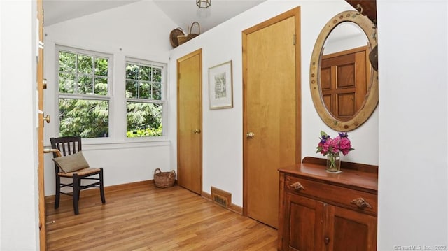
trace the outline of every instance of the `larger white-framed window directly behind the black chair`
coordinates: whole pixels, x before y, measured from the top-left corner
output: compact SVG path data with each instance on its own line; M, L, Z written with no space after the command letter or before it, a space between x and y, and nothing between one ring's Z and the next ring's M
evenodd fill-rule
M58 49L59 135L109 136L111 55Z

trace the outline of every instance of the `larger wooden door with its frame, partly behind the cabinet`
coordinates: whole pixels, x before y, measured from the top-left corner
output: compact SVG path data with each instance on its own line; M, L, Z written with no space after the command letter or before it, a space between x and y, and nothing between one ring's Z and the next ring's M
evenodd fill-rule
M281 166L300 162L299 13L243 31L244 214L278 227Z

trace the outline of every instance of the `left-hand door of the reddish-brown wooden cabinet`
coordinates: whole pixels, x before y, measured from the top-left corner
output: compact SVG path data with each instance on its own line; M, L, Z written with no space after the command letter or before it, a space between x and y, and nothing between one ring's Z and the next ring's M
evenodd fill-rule
M324 204L294 194L286 201L283 250L322 250Z

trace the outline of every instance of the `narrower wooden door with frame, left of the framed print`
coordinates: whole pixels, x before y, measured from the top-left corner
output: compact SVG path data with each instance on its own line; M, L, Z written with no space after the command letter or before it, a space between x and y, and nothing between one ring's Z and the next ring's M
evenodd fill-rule
M202 50L177 60L177 181L202 192Z

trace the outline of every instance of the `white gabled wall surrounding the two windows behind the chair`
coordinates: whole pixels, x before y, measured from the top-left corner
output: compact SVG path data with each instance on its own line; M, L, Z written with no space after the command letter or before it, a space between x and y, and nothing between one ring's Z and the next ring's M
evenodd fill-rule
M153 179L153 170L169 170L170 136L161 139L132 138L126 134L125 57L169 62L169 31L177 25L152 1L139 1L100 13L45 27L45 113L58 117L57 45L94 50L113 55L113 102L109 138L83 139L83 152L90 166L104 168L104 185L119 185ZM169 109L167 114L171 113ZM59 133L57 119L45 124L45 145ZM175 120L174 120L175 122ZM167 124L165 132L169 131ZM144 141L142 141L144 140ZM146 140L146 142L145 142ZM45 194L55 194L52 155L45 155Z

